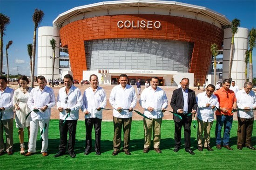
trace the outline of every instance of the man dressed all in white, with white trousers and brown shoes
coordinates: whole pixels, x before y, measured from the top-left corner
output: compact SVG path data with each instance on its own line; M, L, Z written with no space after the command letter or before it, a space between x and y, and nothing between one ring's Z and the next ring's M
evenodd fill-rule
M31 90L27 105L32 110L30 121L30 135L27 154L25 157L31 156L36 152L36 138L38 133L38 127L40 131L43 131L41 138L42 149L41 153L43 157L48 156L48 128L51 117L51 108L55 105L54 91L50 87L46 86L46 79L44 76L37 77L38 87Z

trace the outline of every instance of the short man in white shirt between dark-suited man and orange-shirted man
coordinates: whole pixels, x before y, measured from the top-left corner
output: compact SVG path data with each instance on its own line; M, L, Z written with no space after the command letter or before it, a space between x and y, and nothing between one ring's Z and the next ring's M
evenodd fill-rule
M207 85L206 91L199 93L196 97L198 105L197 109L197 149L199 151L207 148L209 151L213 151L210 147L210 131L214 121L214 110L219 108L218 98L213 94L215 91L214 85ZM204 132L204 135L202 135Z

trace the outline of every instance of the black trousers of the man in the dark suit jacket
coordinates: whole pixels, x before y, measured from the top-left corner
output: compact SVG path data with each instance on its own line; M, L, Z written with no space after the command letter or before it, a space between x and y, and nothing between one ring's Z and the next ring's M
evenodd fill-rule
M182 140L182 126L184 128L184 142L185 142L185 150L190 149L190 136L191 136L191 118L182 115L182 120L180 122L175 122L175 133L174 133L174 140L175 140L175 147L181 146Z

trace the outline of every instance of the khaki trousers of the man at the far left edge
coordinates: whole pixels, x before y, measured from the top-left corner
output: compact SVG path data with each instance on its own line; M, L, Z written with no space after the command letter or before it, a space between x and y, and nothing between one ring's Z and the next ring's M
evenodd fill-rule
M4 143L4 130L6 137L6 145ZM0 153L13 151L13 118L0 121Z

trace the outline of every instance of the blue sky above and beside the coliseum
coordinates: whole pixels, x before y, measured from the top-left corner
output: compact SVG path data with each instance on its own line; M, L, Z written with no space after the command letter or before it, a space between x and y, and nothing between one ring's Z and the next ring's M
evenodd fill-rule
M79 7L104 0L0 0L0 13L10 17L10 24L3 36L3 72L7 73L6 45L8 49L9 73L30 75L27 44L33 43L34 23L32 15L35 8L45 15L39 26L53 26L53 20L73 7ZM110 0L107 0L110 1ZM240 27L256 27L256 0L176 0L178 2L207 7L225 15L230 21L241 20ZM37 48L36 48L37 50ZM36 53L37 56L37 53ZM37 60L35 67L37 67ZM256 77L256 49L253 51L253 76ZM35 75L37 70L35 68Z

